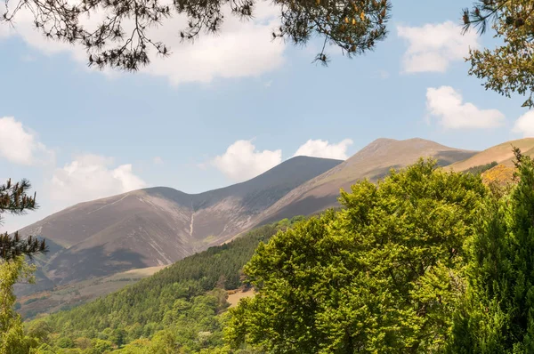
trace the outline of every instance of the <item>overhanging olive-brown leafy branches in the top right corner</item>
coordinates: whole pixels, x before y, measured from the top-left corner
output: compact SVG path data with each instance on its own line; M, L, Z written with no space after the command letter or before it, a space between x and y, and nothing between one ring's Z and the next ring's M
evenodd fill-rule
M523 107L532 108L534 93L534 3L531 0L478 0L464 11L465 30L481 33L489 26L504 44L493 50L471 50L471 75L486 80L484 86L510 97L528 95Z

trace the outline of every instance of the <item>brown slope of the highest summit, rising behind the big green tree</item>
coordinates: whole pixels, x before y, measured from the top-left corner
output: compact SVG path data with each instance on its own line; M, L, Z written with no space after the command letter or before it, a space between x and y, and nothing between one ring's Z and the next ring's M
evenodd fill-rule
M389 169L413 164L419 157L435 157L439 165L450 165L472 157L476 151L454 149L424 139L396 141L378 139L343 164L303 183L260 214L255 225L285 217L320 212L336 206L339 189L350 189L356 181L376 181Z

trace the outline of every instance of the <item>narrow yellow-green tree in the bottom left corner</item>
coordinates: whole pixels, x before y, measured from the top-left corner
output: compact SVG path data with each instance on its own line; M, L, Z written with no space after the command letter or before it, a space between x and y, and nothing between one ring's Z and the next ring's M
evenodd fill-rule
M0 354L28 353L22 320L13 309L16 301L13 286L22 278L33 281L34 270L35 266L29 266L23 256L0 260Z

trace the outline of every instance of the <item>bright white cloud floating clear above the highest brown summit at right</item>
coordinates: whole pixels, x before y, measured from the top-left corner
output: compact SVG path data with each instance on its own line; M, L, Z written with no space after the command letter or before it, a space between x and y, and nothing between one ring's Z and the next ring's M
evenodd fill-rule
M462 95L450 86L426 90L428 113L451 129L492 128L502 125L505 116L498 109L479 109L463 102Z

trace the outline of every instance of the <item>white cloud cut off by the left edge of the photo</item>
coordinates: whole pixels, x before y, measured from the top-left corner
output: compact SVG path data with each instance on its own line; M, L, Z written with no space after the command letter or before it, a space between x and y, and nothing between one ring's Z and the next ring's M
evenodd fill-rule
M53 152L37 141L32 133L14 117L0 118L0 157L20 165L48 163Z

